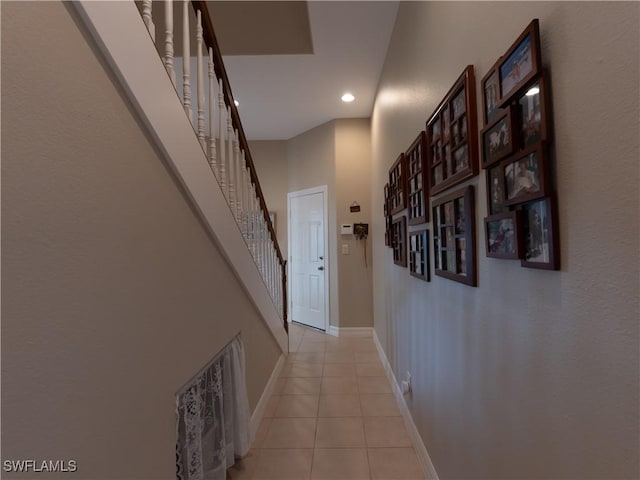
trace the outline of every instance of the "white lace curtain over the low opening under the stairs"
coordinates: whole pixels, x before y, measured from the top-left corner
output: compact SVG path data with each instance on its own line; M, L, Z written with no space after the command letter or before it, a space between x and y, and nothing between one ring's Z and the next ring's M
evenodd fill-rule
M253 441L239 335L178 392L176 403L176 477L225 480Z

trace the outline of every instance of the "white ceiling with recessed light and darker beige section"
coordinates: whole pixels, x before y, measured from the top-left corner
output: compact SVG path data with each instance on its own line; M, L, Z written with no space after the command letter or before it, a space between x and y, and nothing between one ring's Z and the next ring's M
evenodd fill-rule
M208 2L249 140L370 117L397 1ZM349 91L352 103L340 100Z

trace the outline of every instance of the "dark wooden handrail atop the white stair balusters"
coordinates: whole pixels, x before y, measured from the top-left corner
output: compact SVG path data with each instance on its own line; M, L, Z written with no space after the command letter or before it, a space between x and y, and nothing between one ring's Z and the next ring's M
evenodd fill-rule
M193 6L193 9L196 11L196 13L198 10L202 12L202 27L204 30L204 42L206 43L207 47L211 47L213 49L213 63L214 63L215 72L218 79L222 80L222 85L224 87L223 88L224 100L226 105L231 109L231 119L233 122L233 126L238 131L240 145L242 146L245 152L245 161L247 163L247 167L249 168L249 175L251 177L251 182L255 186L256 195L258 196L258 199L260 202L260 208L262 209L262 214L264 216L264 219L266 220L266 223L269 229L269 235L273 240L273 244L276 249L276 255L278 256L278 261L280 262L280 265L283 268L283 276L285 276L284 275L285 260L282 257L282 252L280 251L280 245L278 245L276 232L273 229L273 225L271 224L271 219L269 218L269 211L267 209L267 204L264 201L264 195L262 193L262 188L260 187L260 181L258 180L256 167L253 164L253 158L251 157L251 152L249 151L249 143L247 142L247 137L245 136L244 129L242 128L240 115L238 114L238 109L236 108L236 105L233 102L233 93L231 91L231 84L229 83L229 78L227 77L227 72L224 68L222 54L220 53L220 49L218 47L218 40L216 39L216 35L213 31L213 24L211 23L211 16L209 14L209 8L207 7L207 2L202 0L192 0L191 5ZM286 306L286 303L285 303L285 306ZM286 319L286 308L285 308L285 319Z

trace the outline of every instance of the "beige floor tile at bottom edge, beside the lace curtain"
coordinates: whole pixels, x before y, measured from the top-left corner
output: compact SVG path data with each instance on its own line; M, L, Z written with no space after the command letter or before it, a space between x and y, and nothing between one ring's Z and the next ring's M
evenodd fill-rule
M252 480L306 480L311 476L311 449L260 450Z

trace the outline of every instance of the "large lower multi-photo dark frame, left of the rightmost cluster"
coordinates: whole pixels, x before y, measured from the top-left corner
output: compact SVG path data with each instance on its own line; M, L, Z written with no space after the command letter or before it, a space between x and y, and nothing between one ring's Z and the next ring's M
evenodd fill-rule
M433 201L433 230L435 274L477 286L472 185Z

